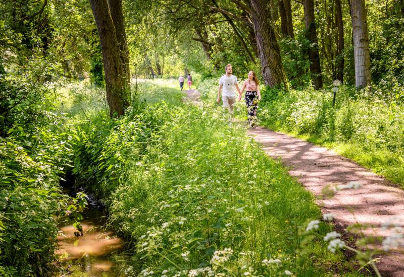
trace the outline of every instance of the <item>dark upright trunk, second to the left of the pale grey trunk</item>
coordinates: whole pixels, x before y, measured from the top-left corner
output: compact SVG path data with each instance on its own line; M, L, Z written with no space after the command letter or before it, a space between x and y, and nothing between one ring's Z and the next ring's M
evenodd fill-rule
M319 46L316 22L314 19L314 2L313 0L304 0L303 5L305 8L306 37L310 41L310 46L308 49L310 72L312 73L313 86L316 90L319 90L323 87L323 79L321 77Z

